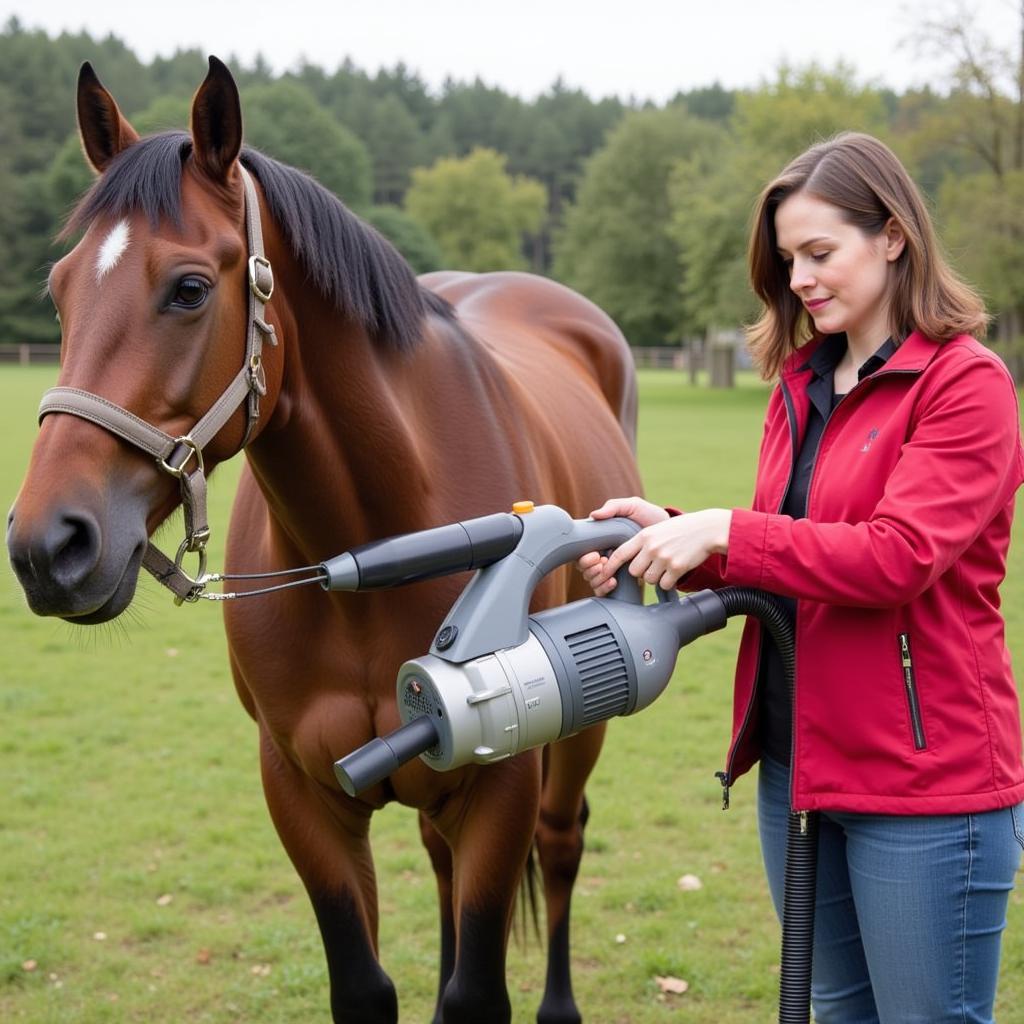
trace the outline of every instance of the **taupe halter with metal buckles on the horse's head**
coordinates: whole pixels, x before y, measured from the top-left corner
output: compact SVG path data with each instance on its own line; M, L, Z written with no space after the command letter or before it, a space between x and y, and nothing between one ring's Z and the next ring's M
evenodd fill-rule
M249 316L246 327L246 356L242 369L213 403L210 411L188 431L174 437L146 423L134 413L91 391L75 387L50 388L39 406L39 420L51 413L68 413L89 420L123 438L156 460L165 473L178 481L184 511L185 538L173 560L152 543L146 547L142 566L175 594L175 602L195 601L206 586L206 545L210 526L206 511L206 472L203 450L221 427L246 403L246 430L238 451L249 443L259 419L259 399L266 394L262 350L264 339L276 345L273 327L264 318L266 303L273 293L273 271L263 253L259 200L252 176L239 164L245 190L246 236L249 244ZM189 577L181 567L186 553L199 556L199 570Z

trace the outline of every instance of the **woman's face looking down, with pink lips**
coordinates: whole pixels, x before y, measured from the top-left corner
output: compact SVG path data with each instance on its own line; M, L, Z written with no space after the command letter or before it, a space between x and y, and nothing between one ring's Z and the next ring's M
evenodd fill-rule
M894 221L867 236L843 211L806 193L794 193L775 211L778 252L790 288L822 334L845 331L851 350L866 358L889 336L889 274L903 251Z

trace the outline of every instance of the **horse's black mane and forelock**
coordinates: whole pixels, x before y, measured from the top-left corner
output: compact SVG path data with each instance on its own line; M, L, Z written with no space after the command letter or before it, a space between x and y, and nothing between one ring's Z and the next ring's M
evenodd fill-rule
M181 173L191 148L191 136L178 131L128 146L72 212L61 238L101 214L141 211L155 227L165 217L180 226ZM242 163L321 294L375 343L409 351L422 338L427 312L455 318L447 302L420 286L394 246L319 182L250 146L243 147Z

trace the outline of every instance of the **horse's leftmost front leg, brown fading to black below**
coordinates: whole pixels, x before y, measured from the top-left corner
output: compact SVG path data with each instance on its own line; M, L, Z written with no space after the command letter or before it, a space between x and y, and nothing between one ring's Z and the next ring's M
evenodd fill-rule
M398 1000L377 959L377 882L370 813L342 813L260 729L270 817L309 894L324 939L335 1024L397 1024Z

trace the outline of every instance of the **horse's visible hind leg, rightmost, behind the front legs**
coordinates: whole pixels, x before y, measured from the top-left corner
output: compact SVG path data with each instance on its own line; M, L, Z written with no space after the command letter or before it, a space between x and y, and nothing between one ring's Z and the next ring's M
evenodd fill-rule
M587 824L584 786L601 753L604 725L553 743L545 751L545 777L537 826L537 853L548 918L548 972L538 1024L580 1024L569 963L569 904L583 857Z

